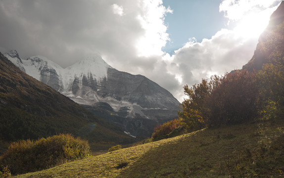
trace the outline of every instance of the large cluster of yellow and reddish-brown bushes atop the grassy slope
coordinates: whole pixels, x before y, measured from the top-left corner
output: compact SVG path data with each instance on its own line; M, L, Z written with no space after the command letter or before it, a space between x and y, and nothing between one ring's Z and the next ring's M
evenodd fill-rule
M178 114L188 131L242 123L258 115L259 91L254 73L234 71L184 89L189 98L182 102Z

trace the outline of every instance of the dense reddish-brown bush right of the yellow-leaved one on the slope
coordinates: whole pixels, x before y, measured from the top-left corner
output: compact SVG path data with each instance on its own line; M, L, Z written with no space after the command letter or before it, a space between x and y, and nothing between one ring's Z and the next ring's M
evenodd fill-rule
M210 110L207 126L243 123L258 115L259 89L254 73L242 70L220 79L206 105Z

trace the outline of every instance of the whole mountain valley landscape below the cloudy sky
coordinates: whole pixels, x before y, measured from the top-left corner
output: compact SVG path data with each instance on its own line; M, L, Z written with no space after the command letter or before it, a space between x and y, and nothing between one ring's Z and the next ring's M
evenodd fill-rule
M98 55L0 53L0 178L283 177L284 1L242 69L201 81L180 103Z

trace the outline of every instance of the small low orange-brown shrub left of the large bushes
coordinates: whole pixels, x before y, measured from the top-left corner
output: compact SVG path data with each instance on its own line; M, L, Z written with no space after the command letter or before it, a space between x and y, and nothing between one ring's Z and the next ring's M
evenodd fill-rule
M182 122L180 119L174 119L164 124L158 125L152 134L152 140L157 141L164 138L177 136L182 131Z

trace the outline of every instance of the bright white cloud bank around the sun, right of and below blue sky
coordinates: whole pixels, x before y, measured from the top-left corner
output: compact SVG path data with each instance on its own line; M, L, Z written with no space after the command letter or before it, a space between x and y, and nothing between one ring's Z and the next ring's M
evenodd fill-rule
M173 56L164 57L167 71L178 81L172 93L182 101L178 92L185 85L192 86L212 75L224 75L241 69L252 57L258 37L268 24L269 17L281 0L223 0L220 12L225 12L232 30L221 29L211 39L197 43L190 38ZM228 23L230 27L230 23Z

